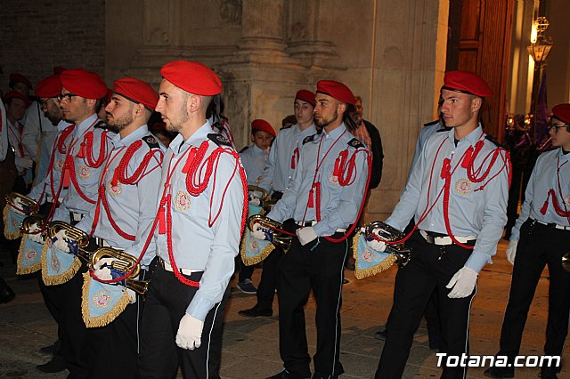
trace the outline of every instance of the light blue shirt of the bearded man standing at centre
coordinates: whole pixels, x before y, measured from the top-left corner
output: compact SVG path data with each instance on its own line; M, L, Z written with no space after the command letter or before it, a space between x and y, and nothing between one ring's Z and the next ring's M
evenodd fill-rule
M338 176L333 174L335 162L344 150L348 151L349 158L356 154L354 173L346 186L340 185ZM323 131L315 135L313 141L303 145L289 187L267 217L277 222L291 217L296 222L315 221L316 196L313 195L313 207L309 207L309 197L314 181L320 181L321 221L314 224L314 232L317 236L330 236L338 229L347 229L356 220L362 205L368 179L368 154L368 149L346 130L344 124L330 133Z

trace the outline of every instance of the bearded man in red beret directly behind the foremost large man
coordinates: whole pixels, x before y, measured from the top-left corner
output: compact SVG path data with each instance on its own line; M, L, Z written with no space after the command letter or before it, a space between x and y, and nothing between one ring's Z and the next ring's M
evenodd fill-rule
M134 259L144 254L137 278L141 280L148 280L147 270L155 256L154 244L145 251L143 246L157 214L160 165L166 149L147 126L158 100L156 91L141 80L115 80L105 107L107 127L117 133L111 140L113 149L103 163L97 204L76 225L93 235L98 247L123 250ZM94 280L111 279L110 261L103 258L94 264ZM127 292L131 303L116 319L107 326L87 330L90 377L134 378L142 298L130 289Z

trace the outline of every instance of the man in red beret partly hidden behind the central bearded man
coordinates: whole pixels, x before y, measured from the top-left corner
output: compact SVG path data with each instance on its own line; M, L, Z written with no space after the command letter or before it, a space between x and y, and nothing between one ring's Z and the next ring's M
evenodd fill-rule
M316 134L313 123L314 93L299 90L295 95L294 109L296 125L282 128L269 152L265 170L259 178L257 186L271 193L273 200L279 200L287 189L289 180L298 165L300 151L305 137ZM271 317L273 315L273 297L277 288L277 263L282 250L275 247L264 260L261 280L257 286L257 302L253 308L240 310L238 313L246 317Z

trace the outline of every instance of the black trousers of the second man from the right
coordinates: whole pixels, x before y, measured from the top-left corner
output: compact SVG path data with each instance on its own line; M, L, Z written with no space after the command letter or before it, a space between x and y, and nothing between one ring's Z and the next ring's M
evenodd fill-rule
M413 335L435 289L442 326L440 351L459 357L468 353L469 310L476 289L465 298L450 299L447 294L451 290L445 286L467 262L471 250L456 245L428 244L419 231L414 232L409 243L413 254L408 265L398 270L395 277L394 303L387 321L387 338L376 371L377 379L402 377ZM442 377L463 377L465 371L465 367L444 367Z

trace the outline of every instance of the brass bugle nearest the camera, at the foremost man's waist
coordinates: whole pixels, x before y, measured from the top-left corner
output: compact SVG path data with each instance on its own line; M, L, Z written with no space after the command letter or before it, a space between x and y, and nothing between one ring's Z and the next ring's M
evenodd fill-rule
M111 262L110 266L115 270L120 270L125 274L132 270L133 272L125 278L125 286L132 289L137 294L146 293L150 282L148 280L134 279L141 272L141 266L137 264L137 260L133 255L126 254L125 252L112 247L100 247L91 255L91 267L94 267L95 263L99 262L103 258L113 259L114 261Z

